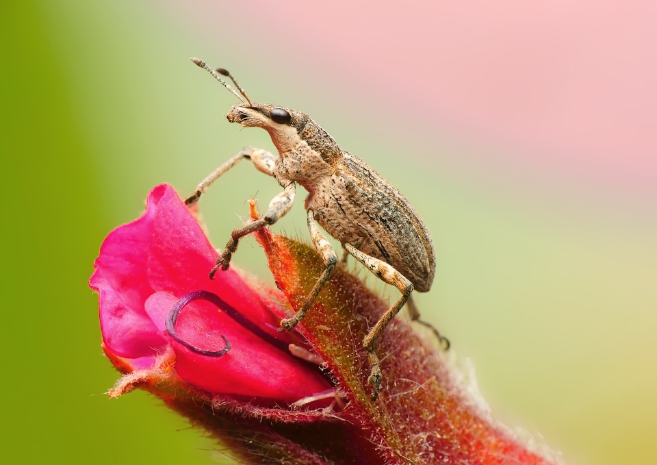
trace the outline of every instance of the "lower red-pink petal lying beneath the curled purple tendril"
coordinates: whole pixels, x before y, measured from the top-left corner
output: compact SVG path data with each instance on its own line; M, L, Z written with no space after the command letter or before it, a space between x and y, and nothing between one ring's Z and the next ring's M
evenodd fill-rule
M176 302L172 295L159 292L149 299L147 310L153 316L161 316L162 308L170 310ZM154 305L160 308L155 309ZM176 332L179 338L201 350L224 349L222 336L231 344L227 353L212 357L170 339L178 375L208 392L292 403L331 388L308 364L255 336L211 303L189 303L178 318Z

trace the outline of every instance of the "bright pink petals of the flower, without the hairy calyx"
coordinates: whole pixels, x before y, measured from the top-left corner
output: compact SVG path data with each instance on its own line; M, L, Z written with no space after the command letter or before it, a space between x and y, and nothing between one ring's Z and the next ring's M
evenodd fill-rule
M232 269L209 279L216 257L176 192L154 188L146 212L114 229L94 262L106 350L134 370L172 349L177 375L191 386L261 405L331 389L289 353L300 342L276 331L283 312L271 297ZM185 296L189 303L172 310Z

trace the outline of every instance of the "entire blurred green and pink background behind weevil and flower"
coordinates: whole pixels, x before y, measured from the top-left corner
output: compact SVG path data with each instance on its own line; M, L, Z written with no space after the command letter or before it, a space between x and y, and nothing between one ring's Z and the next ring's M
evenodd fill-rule
M472 357L496 418L571 464L657 462L653 3L0 11L7 463L226 460L148 395L105 397L117 374L86 286L103 237L151 186L189 194L244 145L272 148L227 123L234 97L191 56L313 116L417 207L439 257L418 301ZM247 162L226 175L202 203L214 242L246 199L276 192ZM274 230L307 238L301 203ZM255 242L235 263L270 282Z

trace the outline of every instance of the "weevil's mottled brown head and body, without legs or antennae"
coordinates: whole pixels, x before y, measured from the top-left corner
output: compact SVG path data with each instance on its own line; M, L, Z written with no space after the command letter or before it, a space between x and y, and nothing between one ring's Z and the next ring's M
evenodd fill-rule
M274 122L274 109L290 114L289 123ZM430 290L436 267L433 242L422 218L394 186L342 151L302 112L252 103L235 105L227 118L269 132L279 152L274 177L283 184L296 181L309 192L306 210L333 238L392 265L415 290Z

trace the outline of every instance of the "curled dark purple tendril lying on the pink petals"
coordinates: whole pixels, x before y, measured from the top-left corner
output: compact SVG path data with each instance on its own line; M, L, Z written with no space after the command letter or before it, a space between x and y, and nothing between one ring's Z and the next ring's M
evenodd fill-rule
M171 311L169 312L168 316L166 317L166 331L168 331L169 335L183 344L185 347L188 349L200 353L202 355L208 355L209 357L221 357L224 355L224 353L227 353L231 349L231 343L229 340L226 338L226 336L221 336L221 338L224 340L226 343L226 347L220 351L205 351L203 349L198 349L198 347L194 347L192 344L189 342L183 340L178 336L176 333L176 321L178 319L178 316L180 315L180 312L183 310L185 305L188 305L188 303L195 301L195 300L204 300L209 303L214 303L224 314L232 318L235 323L238 323L240 326L244 327L244 329L247 329L251 333L255 334L255 336L258 336L262 340L265 340L269 344L272 344L272 346L276 347L276 349L280 349L283 352L288 353L287 349L287 343L283 342L280 339L274 338L274 336L271 336L268 334L266 331L263 331L258 325L250 321L246 316L242 315L240 312L237 312L231 305L226 303L221 297L219 297L217 294L214 294L214 292L209 292L207 290L196 290L194 292L190 292L189 294L185 295L182 297L179 301L175 303L175 305L172 307Z

